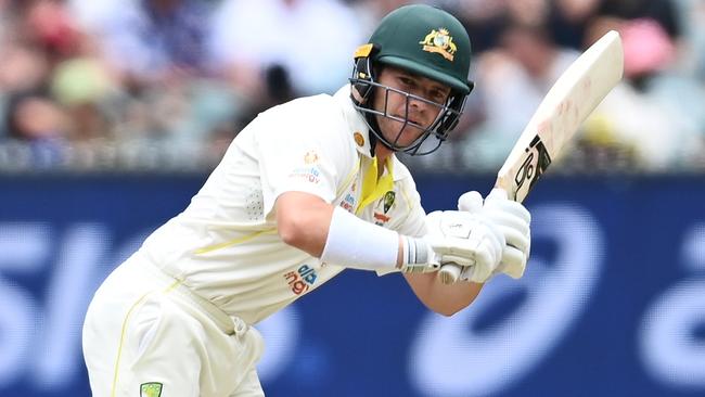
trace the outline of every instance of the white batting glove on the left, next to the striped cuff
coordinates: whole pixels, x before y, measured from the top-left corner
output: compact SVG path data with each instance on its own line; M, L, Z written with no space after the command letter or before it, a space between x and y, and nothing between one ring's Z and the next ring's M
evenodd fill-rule
M498 267L504 234L484 214L434 212L426 216L428 242L435 260L465 268L467 280L485 282Z

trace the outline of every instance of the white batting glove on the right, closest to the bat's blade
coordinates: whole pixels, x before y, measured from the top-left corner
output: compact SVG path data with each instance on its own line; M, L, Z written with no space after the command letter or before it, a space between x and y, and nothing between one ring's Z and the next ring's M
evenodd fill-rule
M483 214L502 233L507 244L502 249L500 265L495 270L513 279L524 276L526 261L531 248L530 221L531 215L522 205L507 197L507 192L493 189L484 201L478 192L467 192L458 198L458 209L471 214ZM464 269L460 278L467 280Z

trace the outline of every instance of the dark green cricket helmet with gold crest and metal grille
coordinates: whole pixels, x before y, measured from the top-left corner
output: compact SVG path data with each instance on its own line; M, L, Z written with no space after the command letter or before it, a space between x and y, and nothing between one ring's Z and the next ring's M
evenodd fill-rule
M374 30L367 44L355 53L355 68L350 82L358 95L351 95L356 108L364 116L374 138L393 151L411 155L434 152L458 125L465 106L465 99L474 84L467 79L470 72L471 44L463 25L448 12L424 4L401 7L387 14ZM395 66L450 87L445 103L399 91L375 80L381 67ZM379 88L375 90L374 88ZM407 115L403 118L389 115L386 110L372 107L375 91L386 90L407 97ZM438 116L427 128L408 120L409 100L422 101L438 107ZM387 139L380 131L376 117L388 117L402 123L395 139ZM405 127L412 125L424 132L408 145L400 145ZM435 144L422 144L430 136Z

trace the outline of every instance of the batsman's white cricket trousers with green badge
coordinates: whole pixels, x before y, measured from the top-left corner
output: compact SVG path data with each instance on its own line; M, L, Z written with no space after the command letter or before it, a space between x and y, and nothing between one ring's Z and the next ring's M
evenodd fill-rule
M82 344L95 397L264 396L259 332L140 253L95 292Z

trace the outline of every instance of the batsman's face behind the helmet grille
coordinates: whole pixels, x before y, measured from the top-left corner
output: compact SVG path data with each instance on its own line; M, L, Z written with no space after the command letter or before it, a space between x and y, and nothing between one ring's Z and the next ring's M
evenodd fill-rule
M380 130L384 137L390 142L402 146L415 141L436 120L440 112L440 105L446 103L450 94L450 88L440 82L392 66L382 69L377 81L383 86L426 100L422 101L382 88L376 89L377 92L374 95L373 103L376 111L410 121L405 126L401 120L376 116Z

